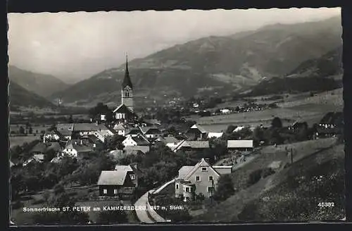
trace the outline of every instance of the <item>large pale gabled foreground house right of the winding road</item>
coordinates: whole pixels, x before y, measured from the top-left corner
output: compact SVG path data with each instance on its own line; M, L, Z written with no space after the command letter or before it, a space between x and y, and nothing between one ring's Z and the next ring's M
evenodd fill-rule
M182 166L175 179L175 197L193 200L195 194L213 196L220 175L232 173L232 166L211 166L202 158L196 166Z

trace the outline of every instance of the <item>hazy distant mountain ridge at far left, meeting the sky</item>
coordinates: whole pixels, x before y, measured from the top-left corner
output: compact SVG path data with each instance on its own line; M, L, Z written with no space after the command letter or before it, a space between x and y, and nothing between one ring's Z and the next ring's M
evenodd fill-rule
M53 75L32 73L28 70L17 68L14 65L8 66L8 77L12 82L17 83L28 91L35 92L39 96L44 97L63 91L69 86Z

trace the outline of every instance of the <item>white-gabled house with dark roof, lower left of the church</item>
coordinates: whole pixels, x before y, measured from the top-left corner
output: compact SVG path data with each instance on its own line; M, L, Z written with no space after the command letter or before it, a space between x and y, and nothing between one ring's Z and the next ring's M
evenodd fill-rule
M74 158L82 158L95 150L95 144L84 144L82 140L71 140L63 149L63 154Z

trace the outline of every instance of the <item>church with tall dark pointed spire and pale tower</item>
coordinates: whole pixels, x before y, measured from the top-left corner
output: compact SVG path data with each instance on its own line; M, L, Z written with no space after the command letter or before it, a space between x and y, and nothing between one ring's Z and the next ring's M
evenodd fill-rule
M126 56L126 68L125 77L122 82L121 88L121 104L114 111L113 115L116 120L126 122L127 120L133 120L135 118L133 108L133 86L128 71L128 60Z

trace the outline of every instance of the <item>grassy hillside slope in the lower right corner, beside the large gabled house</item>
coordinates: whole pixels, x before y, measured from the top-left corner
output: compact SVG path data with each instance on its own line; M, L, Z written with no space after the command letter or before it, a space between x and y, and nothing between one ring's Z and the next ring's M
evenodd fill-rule
M299 143L294 144L295 149L301 149L298 152L300 156L296 156L294 163L287 168L284 166L289 158L272 153L272 150L261 154L266 155L266 158L253 161L253 164L249 163L251 166L245 166L238 173L233 173L235 187L239 191L206 213L194 217L192 222L313 221L344 218L344 145L334 144L331 139L309 142L313 146L308 146L307 142L301 148ZM253 185L247 185L249 173L268 168L268 164L275 161L282 161L282 166L275 170L276 173ZM334 207L320 208L320 202L334 202Z

